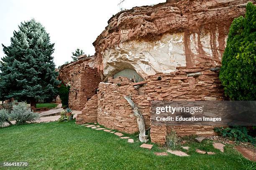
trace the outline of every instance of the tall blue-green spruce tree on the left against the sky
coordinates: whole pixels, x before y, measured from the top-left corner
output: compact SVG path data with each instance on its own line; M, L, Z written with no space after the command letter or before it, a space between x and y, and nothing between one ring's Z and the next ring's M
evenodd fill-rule
M20 23L10 41L10 46L2 44L6 56L0 61L0 98L30 100L36 107L36 99L50 98L58 91L54 43L34 19Z

